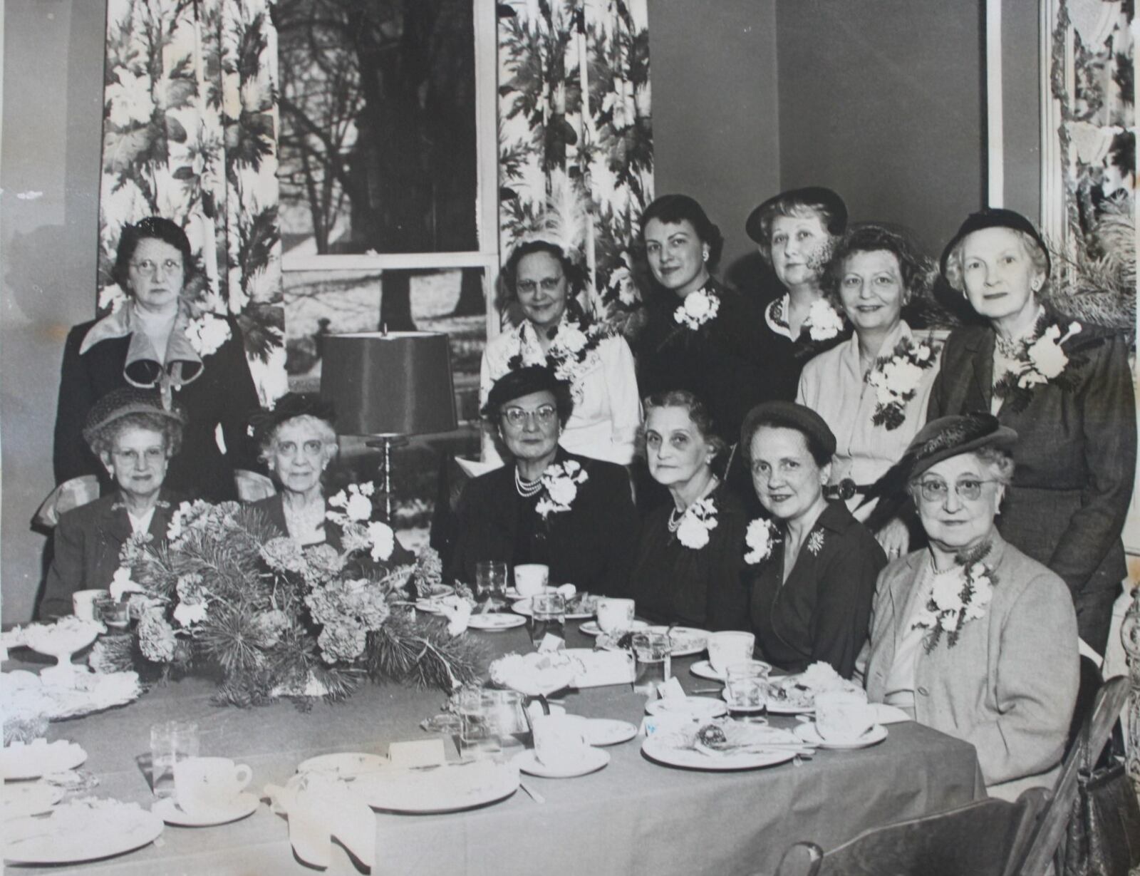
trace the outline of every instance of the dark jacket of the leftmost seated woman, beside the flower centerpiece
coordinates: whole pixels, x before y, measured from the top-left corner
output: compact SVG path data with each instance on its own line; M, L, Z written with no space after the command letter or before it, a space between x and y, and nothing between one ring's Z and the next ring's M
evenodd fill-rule
M158 492L147 528L155 546L166 538L170 518L180 501L165 487ZM119 552L133 532L117 490L63 514L56 525L55 555L36 616L47 619L70 615L73 593L108 587L120 567Z

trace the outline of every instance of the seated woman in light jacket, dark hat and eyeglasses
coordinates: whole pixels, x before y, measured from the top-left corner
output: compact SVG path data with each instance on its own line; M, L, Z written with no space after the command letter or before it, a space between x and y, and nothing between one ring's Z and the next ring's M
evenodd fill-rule
M864 655L868 698L971 743L1007 800L1052 785L1080 673L1068 589L994 526L1016 441L990 414L914 436L899 467L929 545L879 576Z

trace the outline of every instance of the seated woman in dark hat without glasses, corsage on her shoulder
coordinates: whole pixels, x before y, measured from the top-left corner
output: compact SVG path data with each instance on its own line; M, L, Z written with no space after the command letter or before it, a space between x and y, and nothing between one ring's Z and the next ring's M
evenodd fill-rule
M749 412L740 438L775 520L751 524L747 537L746 560L759 563L750 594L757 644L789 672L823 660L849 679L887 558L847 505L823 496L836 437L814 411L767 402Z

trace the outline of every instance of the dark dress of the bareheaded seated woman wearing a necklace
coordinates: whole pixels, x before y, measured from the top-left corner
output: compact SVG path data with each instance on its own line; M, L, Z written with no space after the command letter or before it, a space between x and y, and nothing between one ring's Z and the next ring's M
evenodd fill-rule
M686 548L669 532L671 503L646 516L628 594L637 602L637 614L656 623L748 630L743 578L748 516L724 484L709 497L717 510L717 525L700 550Z

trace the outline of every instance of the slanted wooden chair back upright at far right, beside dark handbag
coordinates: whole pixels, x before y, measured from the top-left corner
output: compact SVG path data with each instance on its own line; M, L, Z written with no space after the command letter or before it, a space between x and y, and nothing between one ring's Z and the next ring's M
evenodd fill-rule
M1129 680L1123 675L1100 686L1092 712L1065 755L1052 796L1036 824L1019 840L1024 851L1015 847L1005 876L1043 876L1049 869L1073 812L1073 802L1077 796L1077 772L1085 764L1091 766L1100 757L1127 697Z

